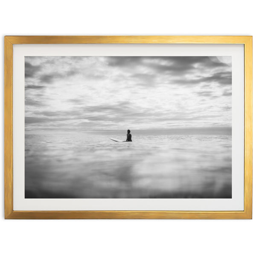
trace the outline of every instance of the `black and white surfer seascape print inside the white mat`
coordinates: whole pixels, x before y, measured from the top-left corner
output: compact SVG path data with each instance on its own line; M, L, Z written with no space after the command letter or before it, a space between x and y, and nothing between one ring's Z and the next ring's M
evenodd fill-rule
M25 198L232 198L231 56L26 56Z

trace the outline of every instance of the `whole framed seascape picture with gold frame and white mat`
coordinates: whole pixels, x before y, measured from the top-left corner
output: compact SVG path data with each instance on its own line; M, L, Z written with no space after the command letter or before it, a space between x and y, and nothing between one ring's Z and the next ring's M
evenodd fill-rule
M252 37L6 36L5 218L252 218Z

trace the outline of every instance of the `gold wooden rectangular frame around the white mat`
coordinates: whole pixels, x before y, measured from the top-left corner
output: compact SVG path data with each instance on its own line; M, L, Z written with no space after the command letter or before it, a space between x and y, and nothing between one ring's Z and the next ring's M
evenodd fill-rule
M13 44L244 44L244 211L14 211ZM6 36L5 218L8 219L250 219L252 218L252 36Z

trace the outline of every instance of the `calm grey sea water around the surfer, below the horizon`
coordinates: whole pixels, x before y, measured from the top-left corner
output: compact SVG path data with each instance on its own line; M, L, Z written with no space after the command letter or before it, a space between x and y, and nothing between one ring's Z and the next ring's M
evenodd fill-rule
M26 198L231 198L231 135L26 134Z

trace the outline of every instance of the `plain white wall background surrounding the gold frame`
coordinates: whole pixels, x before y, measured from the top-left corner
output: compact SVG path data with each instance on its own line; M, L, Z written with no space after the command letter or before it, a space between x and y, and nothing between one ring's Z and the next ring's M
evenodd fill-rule
M1 11L2 84L4 35L255 35L256 30L250 0L12 0L3 1ZM255 254L255 214L253 220L4 220L3 86L1 93L1 254Z

